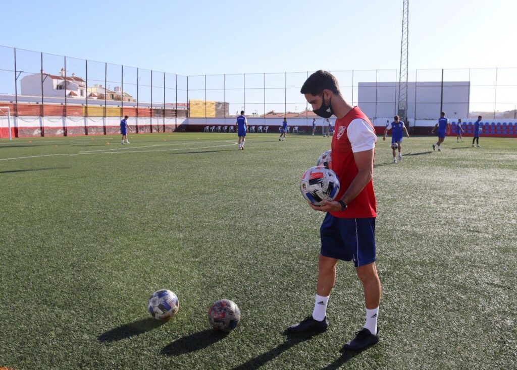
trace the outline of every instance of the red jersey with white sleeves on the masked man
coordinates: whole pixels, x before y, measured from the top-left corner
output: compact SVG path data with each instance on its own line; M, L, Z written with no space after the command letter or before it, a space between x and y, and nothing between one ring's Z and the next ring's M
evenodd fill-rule
M332 170L336 172L341 185L336 200L341 199L358 172L354 153L374 149L376 141L375 129L359 107L354 107L346 116L336 120L332 137ZM347 204L346 210L332 211L330 214L342 218L376 217L377 203L373 182L370 181Z

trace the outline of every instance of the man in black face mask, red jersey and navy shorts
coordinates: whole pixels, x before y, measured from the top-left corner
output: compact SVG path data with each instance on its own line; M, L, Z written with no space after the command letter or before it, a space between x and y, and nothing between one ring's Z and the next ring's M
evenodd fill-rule
M336 282L339 260L353 261L361 280L366 303L366 324L344 349L361 350L379 340L377 314L381 282L375 267L376 201L373 191L373 157L377 136L372 123L359 107L348 104L332 74L317 71L307 78L301 91L320 117L335 115L332 137L332 170L341 188L337 201L309 205L327 215L320 228L321 251L312 315L287 328L288 333L323 332L328 327L327 303Z

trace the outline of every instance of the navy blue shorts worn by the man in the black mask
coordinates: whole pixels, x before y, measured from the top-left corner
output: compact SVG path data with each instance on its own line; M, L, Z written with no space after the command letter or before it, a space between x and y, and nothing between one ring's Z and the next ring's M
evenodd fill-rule
M359 267L375 262L375 217L341 218L327 213L320 228L321 255L354 261Z

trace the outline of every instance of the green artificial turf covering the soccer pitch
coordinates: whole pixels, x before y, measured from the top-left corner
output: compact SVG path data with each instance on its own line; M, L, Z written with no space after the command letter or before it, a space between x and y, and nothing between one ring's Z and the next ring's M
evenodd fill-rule
M299 192L330 139L250 134L0 140L0 366L14 369L515 368L517 141L404 139L375 155L381 342L340 352L364 323L351 263L330 326L312 312L324 214ZM31 142L29 142L31 141ZM110 145L107 142L110 142ZM19 158L19 159L9 159ZM6 160L7 159L7 160ZM161 324L149 295L175 292ZM242 314L209 328L217 299Z

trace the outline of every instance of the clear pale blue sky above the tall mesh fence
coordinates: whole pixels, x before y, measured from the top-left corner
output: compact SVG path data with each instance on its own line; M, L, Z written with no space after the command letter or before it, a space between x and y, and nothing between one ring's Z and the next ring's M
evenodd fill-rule
M396 69L402 0L26 1L0 44L183 75ZM410 69L517 67L515 0L415 1Z

